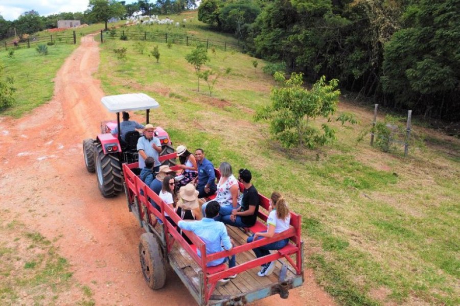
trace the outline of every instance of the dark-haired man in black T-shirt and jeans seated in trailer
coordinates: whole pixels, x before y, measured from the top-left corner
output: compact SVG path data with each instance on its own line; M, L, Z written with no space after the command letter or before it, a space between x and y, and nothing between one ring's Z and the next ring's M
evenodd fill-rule
M240 169L238 173L238 181L244 186L241 206L233 209L232 215L222 216L220 221L237 227L251 227L256 223L259 212L259 194L256 187L250 183L251 172L247 169Z

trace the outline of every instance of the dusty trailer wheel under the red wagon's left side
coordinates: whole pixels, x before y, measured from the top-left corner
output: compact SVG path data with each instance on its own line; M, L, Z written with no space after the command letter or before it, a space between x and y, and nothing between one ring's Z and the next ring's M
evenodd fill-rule
M166 282L166 267L162 248L152 233L143 233L139 243L142 274L148 286L161 289Z

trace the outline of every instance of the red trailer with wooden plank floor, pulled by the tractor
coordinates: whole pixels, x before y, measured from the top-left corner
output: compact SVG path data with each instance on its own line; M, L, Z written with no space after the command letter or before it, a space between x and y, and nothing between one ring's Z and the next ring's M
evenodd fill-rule
M175 154L165 155L160 159L175 158ZM176 227L165 218L165 213L176 224L180 218L136 176L136 171L133 170L137 166L137 162L123 164L124 189L129 211L146 231L141 235L139 255L142 273L150 288L160 289L164 286L167 264L177 273L201 306L243 305L273 294L288 298L289 289L303 284L301 216L291 212L291 226L288 230L275 234L272 238L246 243L246 238L251 232L266 229L269 199L259 194L260 209L257 223L250 228L227 226L229 236L235 241L235 247L231 251L200 257L197 250L200 250L201 254L206 254L204 242L190 231L185 232L193 244L189 245L183 239ZM219 178L219 171L215 171ZM158 204L161 210L155 209L150 200ZM163 224L158 222L156 227L153 227L153 218L159 218ZM257 258L251 251L252 248L286 238L289 238L288 245L278 251L272 251L270 255ZM226 264L206 267L206 263L210 261L233 254L236 254L237 265L231 269L228 269ZM260 265L271 261L278 261L274 272L269 276L259 277L257 272ZM238 276L225 285L217 285L219 279L233 274Z

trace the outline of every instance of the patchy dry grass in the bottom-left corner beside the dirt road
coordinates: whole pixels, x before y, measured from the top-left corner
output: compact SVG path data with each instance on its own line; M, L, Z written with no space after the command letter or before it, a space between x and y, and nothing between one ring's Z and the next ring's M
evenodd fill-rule
M10 217L0 211L0 304L62 303L59 295L79 286L70 264L48 239L16 219L7 221ZM33 248L26 247L31 244ZM83 300L91 293L88 289L81 294Z

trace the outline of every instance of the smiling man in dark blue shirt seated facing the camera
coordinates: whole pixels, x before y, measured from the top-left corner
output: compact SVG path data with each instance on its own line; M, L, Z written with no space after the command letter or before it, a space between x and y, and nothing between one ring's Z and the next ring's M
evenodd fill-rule
M214 166L211 161L204 158L203 149L196 149L195 159L198 166L198 184L196 186L199 192L198 198L212 196L217 190Z

